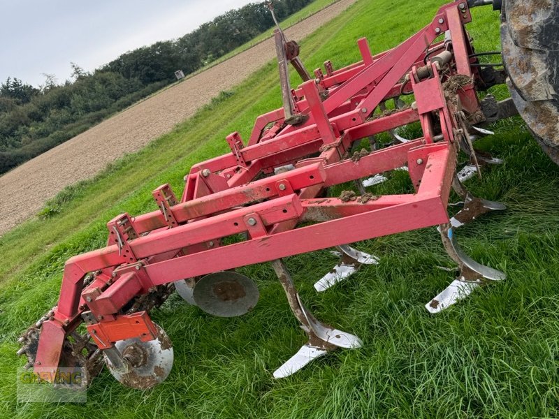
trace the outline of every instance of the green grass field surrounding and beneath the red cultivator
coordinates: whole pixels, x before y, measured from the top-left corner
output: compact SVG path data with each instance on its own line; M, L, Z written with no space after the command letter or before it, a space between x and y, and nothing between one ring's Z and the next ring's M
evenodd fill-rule
M305 63L356 61L361 36L374 52L392 47L426 24L442 2L402 3L408 2L358 1L301 43ZM498 15L491 8L473 12L477 49L498 49ZM507 273L503 283L430 316L423 304L452 279L436 268L452 265L434 228L356 244L381 263L326 293L315 293L312 284L335 263L327 250L288 258L305 304L321 320L361 337L364 346L275 381L271 373L305 335L270 265L245 267L240 272L261 292L246 316L215 318L177 295L153 311L175 350L173 371L157 388L129 390L105 371L89 388L87 404L16 403L15 368L24 363L15 356L17 336L57 300L65 260L101 247L112 216L155 210L150 191L160 184L182 191L182 177L194 163L226 152L224 138L232 131L248 138L256 115L279 106L279 98L270 63L143 151L64 191L48 205L51 216L0 238L0 418L559 416L559 168L519 120L498 124L498 135L479 145L505 163L467 183L507 211L458 232L472 257ZM410 190L402 172L370 189Z

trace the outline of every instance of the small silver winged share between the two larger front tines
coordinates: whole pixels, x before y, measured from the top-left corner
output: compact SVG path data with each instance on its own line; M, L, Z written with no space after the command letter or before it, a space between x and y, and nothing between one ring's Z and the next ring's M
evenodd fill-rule
M326 291L328 288L331 288L331 286L350 277L359 270L361 265L378 265L379 263L379 258L377 258L377 256L358 251L347 244L342 244L336 248L339 251L333 251L332 253L335 256L340 256L340 262L314 284L314 289L319 293L321 291Z

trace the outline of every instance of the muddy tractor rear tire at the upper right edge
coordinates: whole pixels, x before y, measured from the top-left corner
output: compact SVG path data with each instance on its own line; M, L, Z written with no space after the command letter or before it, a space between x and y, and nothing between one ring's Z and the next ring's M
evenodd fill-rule
M539 145L559 164L559 0L504 0L507 85Z

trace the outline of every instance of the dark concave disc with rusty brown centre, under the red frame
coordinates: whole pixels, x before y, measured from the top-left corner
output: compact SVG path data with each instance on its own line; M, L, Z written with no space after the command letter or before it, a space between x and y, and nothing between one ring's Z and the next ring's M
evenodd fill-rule
M256 306L260 293L254 281L238 272L215 272L194 287L196 305L208 314L235 317Z

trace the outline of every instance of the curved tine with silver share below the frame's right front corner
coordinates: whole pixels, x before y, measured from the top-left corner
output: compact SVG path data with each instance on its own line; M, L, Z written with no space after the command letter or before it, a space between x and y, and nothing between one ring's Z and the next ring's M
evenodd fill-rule
M475 288L486 284L486 282L502 281L507 278L503 272L481 265L481 263L477 263L470 256L467 256L458 246L456 235L449 224L440 226L439 230L444 249L449 253L451 259L458 263L460 274L442 293L426 304L426 309L432 314L439 313L452 304L463 300Z

